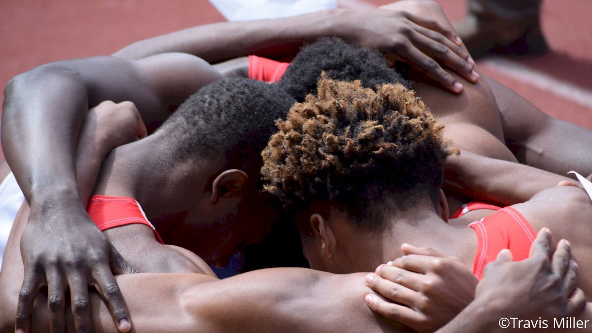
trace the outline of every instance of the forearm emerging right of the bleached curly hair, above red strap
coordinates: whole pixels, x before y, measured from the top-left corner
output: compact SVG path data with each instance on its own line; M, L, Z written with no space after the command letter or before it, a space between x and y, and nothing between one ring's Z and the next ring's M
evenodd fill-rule
M450 156L445 166L445 188L475 200L511 205L570 178L523 164L487 158L462 151Z

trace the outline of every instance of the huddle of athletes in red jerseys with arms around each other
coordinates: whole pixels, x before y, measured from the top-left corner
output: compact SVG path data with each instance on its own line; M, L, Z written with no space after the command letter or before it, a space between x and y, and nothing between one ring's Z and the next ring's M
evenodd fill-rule
M590 172L581 152L592 133L480 78L437 4L359 15L406 23L407 47L394 51L416 65L391 69L374 50L325 38L289 65L212 66L152 54L163 51L155 39L149 54L15 78L2 144L28 204L2 264L2 331L453 332L496 331L507 314L589 319L592 202L558 174ZM323 35L308 28L284 37ZM376 32L342 37L392 47ZM178 36L165 51L192 49ZM277 41L261 36L253 45ZM429 41L462 76L424 60ZM259 81L229 78L242 74ZM311 269L215 277L209 265L278 223L297 226Z

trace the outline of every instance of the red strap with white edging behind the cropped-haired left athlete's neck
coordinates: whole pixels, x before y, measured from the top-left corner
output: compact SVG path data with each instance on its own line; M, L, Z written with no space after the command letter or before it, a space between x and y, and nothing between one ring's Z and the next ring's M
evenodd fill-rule
M107 230L117 226L140 223L152 229L160 244L165 244L156 228L146 218L138 201L127 197L92 196L86 212L99 230Z

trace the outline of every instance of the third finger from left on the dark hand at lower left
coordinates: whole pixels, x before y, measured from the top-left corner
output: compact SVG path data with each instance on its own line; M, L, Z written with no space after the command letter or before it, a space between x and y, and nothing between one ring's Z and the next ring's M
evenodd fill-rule
M88 284L80 274L72 272L70 285L70 306L76 332L92 332L91 306L88 300Z

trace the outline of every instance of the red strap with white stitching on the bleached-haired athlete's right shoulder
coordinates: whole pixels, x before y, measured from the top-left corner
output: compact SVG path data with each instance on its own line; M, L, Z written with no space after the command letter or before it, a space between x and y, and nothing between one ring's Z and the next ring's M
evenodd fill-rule
M481 221L469 225L477 233L477 254L473 263L473 274L481 280L483 269L495 261L502 249L510 249L514 261L528 258L530 245L536 232L520 212L505 207Z

